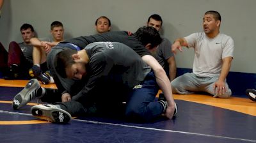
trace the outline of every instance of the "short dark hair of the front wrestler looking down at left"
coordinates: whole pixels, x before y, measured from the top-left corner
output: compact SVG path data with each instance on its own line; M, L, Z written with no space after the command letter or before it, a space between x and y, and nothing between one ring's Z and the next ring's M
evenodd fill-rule
M67 49L59 52L54 58L54 66L56 72L63 78L67 78L66 68L72 66L75 61L72 58L73 54L76 54L77 50Z

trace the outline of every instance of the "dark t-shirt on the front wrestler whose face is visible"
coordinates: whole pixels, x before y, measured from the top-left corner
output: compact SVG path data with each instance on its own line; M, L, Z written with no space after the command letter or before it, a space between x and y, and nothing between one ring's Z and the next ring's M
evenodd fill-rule
M96 42L87 45L84 49L89 57L89 63L86 66L86 84L83 93L77 94L73 100L81 96L90 96L94 92L93 89L100 89L96 86L105 86L110 83L122 84L127 89L132 89L150 72L150 67L142 61L141 57L122 43Z

